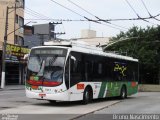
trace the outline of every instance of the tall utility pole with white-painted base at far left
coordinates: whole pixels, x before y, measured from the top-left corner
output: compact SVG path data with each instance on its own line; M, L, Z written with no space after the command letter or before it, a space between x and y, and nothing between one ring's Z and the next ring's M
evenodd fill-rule
M8 6L6 10L6 23L5 23L5 35L4 35L4 43L3 43L3 54L2 54L2 76L1 76L1 88L3 89L5 86L5 59L6 59L6 44L7 44L7 29L8 29Z

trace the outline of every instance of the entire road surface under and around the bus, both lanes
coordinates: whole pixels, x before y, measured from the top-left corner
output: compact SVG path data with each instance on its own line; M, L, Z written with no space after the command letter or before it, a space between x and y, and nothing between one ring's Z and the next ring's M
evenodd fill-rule
M159 92L140 92L125 100L100 99L82 105L80 102L50 104L29 99L25 97L24 90L0 91L0 120L6 113L18 114L18 120L97 120L113 119L113 114L160 114L159 103Z

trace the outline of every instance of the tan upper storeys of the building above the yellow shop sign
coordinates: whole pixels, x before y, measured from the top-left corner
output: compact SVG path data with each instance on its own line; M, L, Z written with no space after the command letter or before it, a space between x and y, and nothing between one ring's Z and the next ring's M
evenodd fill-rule
M0 46L4 41L6 15L8 14L7 43L23 45L23 28L18 29L24 25L24 0L1 0L0 1ZM8 13L7 13L8 7ZM18 30L16 30L18 29Z

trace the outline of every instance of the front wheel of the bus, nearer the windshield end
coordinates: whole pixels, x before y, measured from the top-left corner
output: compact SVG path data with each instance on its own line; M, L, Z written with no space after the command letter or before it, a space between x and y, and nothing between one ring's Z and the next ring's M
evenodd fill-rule
M92 89L90 89L89 87L87 87L87 88L84 90L84 93L83 93L82 103L83 103L84 105L88 104L88 103L92 100L92 97L93 97Z

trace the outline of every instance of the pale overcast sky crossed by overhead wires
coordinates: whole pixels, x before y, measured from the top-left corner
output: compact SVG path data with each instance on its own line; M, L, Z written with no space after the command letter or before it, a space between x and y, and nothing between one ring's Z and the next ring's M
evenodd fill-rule
M74 5L73 2L82 9ZM44 24L57 22L55 19L86 20L84 16L92 20L97 20L95 16L101 19L137 18L136 14L141 18L149 17L145 7L152 16L160 14L160 0L26 0L24 19L25 23L36 21L36 24ZM157 19L160 20L160 16ZM91 21L63 21L63 24L56 25L56 32L65 32L65 35L59 36L63 39L79 38L83 29L95 30L97 37L113 37L120 31L125 32L133 26L145 28L146 26L160 25L158 20L149 19L148 21L149 23L142 20L111 21L111 24L105 22L99 24ZM33 23L29 25L33 25Z

